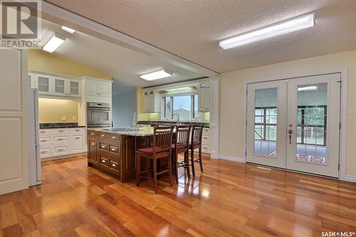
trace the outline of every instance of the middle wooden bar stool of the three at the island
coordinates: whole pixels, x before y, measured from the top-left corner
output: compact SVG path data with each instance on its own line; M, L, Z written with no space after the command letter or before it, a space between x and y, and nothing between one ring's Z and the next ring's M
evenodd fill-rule
M174 166L174 174L176 183L178 184L178 168L187 168L187 176L190 179L189 171L189 135L191 125L177 125L174 144L172 144L172 162ZM184 161L178 162L178 154L184 153Z

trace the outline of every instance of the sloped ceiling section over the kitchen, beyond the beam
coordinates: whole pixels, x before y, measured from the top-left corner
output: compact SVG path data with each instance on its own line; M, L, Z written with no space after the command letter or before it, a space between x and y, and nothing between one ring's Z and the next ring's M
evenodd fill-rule
M56 23L45 20L42 21L40 46L43 46L55 32L66 36L66 41L55 51L55 54L110 73L114 78L114 94L134 90L136 86L161 85L203 76L157 58L88 36L85 33L78 31L73 34L67 33L61 30L61 26ZM139 77L144 73L150 73L162 68L172 71L174 73L173 76L150 82Z

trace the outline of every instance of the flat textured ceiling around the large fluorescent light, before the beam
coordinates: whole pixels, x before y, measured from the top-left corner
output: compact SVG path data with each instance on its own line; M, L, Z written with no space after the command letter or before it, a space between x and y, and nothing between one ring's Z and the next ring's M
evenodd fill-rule
M219 73L356 48L355 0L46 0ZM316 26L224 51L218 41L316 11Z

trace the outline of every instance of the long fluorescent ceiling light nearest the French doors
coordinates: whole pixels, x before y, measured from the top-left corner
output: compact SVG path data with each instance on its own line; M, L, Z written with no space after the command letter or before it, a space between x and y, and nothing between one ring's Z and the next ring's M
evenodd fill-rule
M272 38L275 36L281 36L285 33L290 33L293 31L299 31L303 28L309 28L315 26L315 12L305 14L302 16L297 16L293 19L288 19L286 21L281 21L270 26L265 26L263 28L258 28L247 33L241 33L238 36L231 38L226 38L219 41L219 46L224 49L234 48L237 46L243 46L248 43L253 43L256 41L262 41L266 38Z

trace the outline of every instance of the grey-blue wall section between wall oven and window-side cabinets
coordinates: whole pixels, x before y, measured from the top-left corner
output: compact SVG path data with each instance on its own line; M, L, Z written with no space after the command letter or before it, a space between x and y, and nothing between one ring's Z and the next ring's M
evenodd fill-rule
M112 95L112 122L114 127L132 126L136 106L136 90L130 93Z

